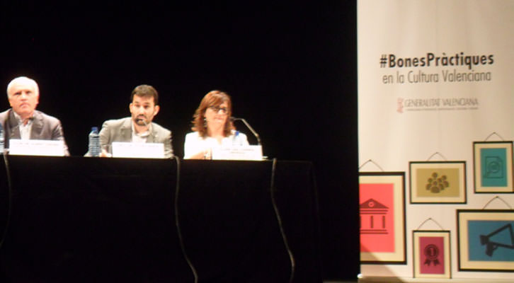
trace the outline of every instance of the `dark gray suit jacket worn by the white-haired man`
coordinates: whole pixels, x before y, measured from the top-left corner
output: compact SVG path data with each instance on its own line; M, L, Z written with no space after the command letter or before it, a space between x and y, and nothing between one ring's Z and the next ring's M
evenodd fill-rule
M34 110L34 119L32 129L30 130L30 139L50 139L64 141L64 133L62 132L61 121L56 117L46 115L45 113ZM0 113L0 123L4 127L4 145L9 146L10 139L20 139L20 128L18 120L14 117L12 109ZM68 146L64 141L64 155L69 156Z

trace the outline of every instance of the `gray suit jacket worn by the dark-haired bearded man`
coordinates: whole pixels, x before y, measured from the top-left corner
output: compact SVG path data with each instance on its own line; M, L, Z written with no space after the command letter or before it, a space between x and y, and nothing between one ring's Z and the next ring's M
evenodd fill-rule
M103 122L100 131L100 145L112 144L113 141L130 142L132 141L132 118L126 117L118 120L107 120ZM147 142L164 144L164 156L173 157L171 147L171 132L152 122L152 132L148 136Z

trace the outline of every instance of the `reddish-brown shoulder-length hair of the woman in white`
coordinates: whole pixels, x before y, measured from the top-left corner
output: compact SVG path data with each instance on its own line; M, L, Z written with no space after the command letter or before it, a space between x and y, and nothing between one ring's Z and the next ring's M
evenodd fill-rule
M223 91L210 91L207 93L200 101L200 106L195 111L195 115L193 115L193 131L198 132L200 137L207 136L207 122L205 122L205 111L207 108L212 106L219 106L222 103L227 103L227 121L225 122L225 127L223 134L225 137L228 137L234 128L234 124L230 120L232 116L232 101L230 100L230 96Z

